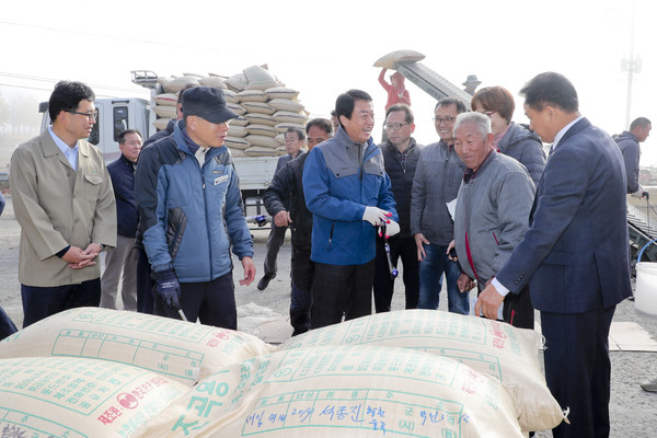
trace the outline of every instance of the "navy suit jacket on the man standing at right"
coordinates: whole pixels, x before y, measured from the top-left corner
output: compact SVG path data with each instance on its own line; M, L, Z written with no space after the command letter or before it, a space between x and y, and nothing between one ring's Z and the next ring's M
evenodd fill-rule
M580 313L632 293L623 158L586 118L548 160L530 228L497 279L511 292L528 283L533 307Z

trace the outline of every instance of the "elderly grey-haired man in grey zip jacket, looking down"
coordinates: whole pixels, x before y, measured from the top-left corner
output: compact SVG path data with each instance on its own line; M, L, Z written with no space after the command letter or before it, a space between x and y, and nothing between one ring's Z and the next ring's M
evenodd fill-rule
M483 290L522 240L535 188L522 164L497 153L491 118L484 114L457 117L454 150L468 166L454 215L457 254L463 269L459 289L469 290L465 285L476 279ZM507 295L500 316L514 326L533 328L529 290Z

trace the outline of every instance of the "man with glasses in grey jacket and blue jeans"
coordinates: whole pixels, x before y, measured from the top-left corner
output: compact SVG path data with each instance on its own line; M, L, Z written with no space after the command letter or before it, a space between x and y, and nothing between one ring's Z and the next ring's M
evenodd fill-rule
M419 261L418 309L438 309L445 273L448 309L461 314L470 312L470 298L459 291L461 268L447 254L454 235L447 204L456 199L465 170L453 146L454 120L465 111L465 103L454 97L442 99L436 105L434 120L440 140L419 154L411 200L411 233Z

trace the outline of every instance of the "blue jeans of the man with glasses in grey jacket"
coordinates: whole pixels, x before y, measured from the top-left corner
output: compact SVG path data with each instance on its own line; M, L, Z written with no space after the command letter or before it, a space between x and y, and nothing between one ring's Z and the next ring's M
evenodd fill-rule
M453 313L470 313L470 295L461 293L457 281L461 276L459 262L448 258L447 246L429 243L424 245L427 256L419 262L419 302L418 309L438 309L442 274L447 278L448 309Z

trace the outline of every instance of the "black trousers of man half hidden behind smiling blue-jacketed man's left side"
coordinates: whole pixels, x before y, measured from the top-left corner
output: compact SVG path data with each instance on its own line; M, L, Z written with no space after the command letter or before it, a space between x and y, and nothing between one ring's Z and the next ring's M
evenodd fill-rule
M293 328L292 336L296 336L310 330L314 281L314 262L310 260L310 249L300 250L292 243L291 277L290 324Z

